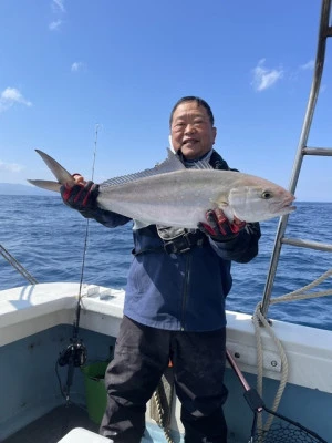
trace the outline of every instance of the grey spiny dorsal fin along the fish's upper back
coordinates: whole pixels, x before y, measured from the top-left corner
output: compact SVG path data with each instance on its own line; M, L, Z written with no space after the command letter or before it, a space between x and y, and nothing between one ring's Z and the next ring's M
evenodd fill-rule
M123 175L121 177L110 178L101 184L101 187L117 186L134 182L138 178L151 177L153 175L173 173L175 171L186 169L179 157L167 148L168 156L164 162L157 163L155 167L144 169L138 173Z

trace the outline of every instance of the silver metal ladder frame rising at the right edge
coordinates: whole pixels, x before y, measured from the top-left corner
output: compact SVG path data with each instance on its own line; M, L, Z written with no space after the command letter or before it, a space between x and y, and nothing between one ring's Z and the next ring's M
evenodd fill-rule
M320 20L320 28L319 28L319 39L318 39L318 49L317 49L317 58L315 58L315 65L314 65L314 73L313 80L311 85L311 91L309 95L309 101L307 105L307 112L302 125L302 131L300 135L300 141L298 145L298 151L294 158L293 169L291 174L291 181L289 185L290 193L294 194L302 162L305 155L320 155L320 156L332 156L332 148L324 148L324 147L308 147L307 142L309 137L309 132L311 128L311 123L313 119L313 113L315 110L315 104L320 91L321 79L323 74L324 68L324 60L325 60L325 48L326 48L326 40L329 37L332 37L332 27L329 24L331 14L331 0L322 0L321 7L321 20ZM332 253L332 245L318 243L318 241L310 241L303 240L298 238L287 238L284 237L286 227L288 224L289 215L284 215L280 218L276 240L273 246L273 251L270 260L268 278L263 291L262 298L262 307L261 312L266 317L268 313L271 292L273 288L273 282L276 278L277 267L279 262L279 257L281 253L282 245L291 245L298 246L303 248L311 248L317 250L330 251Z

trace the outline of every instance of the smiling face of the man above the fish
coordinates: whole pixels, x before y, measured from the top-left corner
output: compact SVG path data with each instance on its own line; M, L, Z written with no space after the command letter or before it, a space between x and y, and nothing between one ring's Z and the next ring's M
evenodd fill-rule
M217 130L204 106L194 101L177 106L170 125L172 144L176 152L181 150L185 158L197 159L208 153L216 135Z

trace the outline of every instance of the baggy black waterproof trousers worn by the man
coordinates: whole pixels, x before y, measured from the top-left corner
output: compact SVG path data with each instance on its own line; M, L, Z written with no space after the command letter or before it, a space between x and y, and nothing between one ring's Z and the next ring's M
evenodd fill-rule
M138 443L146 403L172 359L186 443L226 443L222 404L226 328L211 332L155 329L124 317L105 374L107 406L100 433Z

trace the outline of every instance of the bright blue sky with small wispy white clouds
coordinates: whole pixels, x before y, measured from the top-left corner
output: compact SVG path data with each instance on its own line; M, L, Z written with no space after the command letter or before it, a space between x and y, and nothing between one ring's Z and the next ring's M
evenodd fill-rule
M3 0L0 182L94 179L166 156L184 95L212 107L231 167L288 187L312 82L318 0ZM331 147L331 51L309 145ZM330 99L329 99L330 97ZM299 200L332 200L331 157L304 158Z

